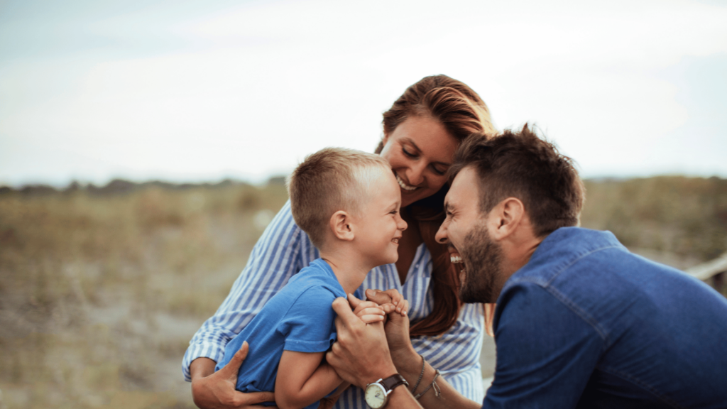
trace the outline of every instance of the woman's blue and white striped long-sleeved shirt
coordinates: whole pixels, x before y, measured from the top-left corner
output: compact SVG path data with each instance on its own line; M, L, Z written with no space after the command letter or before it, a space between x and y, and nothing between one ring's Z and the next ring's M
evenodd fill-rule
M182 372L190 381L189 365L198 357L220 362L225 345L252 320L263 304L278 292L288 279L318 258L318 250L293 221L290 202L273 219L252 249L245 269L235 281L230 294L195 333L182 360ZM432 310L430 289L432 260L425 245L419 245L406 281L401 284L396 266L379 266L366 276L361 292L368 288L395 288L409 300L409 318L422 319ZM480 351L484 333L481 303L464 304L457 323L440 336L417 336L411 339L414 349L441 371L454 389L470 400L482 402ZM345 391L336 408L366 409L364 392L356 387Z

